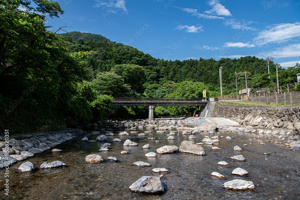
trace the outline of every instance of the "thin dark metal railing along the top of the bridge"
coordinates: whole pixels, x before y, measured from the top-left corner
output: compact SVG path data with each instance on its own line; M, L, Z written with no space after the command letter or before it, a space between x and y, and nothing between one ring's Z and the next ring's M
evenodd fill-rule
M139 97L119 97L113 98L113 101L209 101L209 98L139 98Z

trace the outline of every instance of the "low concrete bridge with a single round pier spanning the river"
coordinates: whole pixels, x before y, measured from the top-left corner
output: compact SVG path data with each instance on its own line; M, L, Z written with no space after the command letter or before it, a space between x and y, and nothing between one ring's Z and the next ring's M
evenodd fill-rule
M214 98L113 98L111 106L148 106L149 120L154 120L154 106L206 106Z

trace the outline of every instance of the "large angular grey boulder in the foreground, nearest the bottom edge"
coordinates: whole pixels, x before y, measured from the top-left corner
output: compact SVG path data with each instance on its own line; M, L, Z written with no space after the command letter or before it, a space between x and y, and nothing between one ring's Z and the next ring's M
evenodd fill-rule
M164 186L161 178L157 176L143 176L134 182L129 189L141 193L163 193Z

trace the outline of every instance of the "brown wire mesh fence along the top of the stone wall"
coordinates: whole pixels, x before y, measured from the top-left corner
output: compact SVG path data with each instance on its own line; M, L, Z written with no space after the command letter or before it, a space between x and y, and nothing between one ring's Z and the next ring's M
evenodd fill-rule
M218 96L219 102L249 106L299 106L300 91Z

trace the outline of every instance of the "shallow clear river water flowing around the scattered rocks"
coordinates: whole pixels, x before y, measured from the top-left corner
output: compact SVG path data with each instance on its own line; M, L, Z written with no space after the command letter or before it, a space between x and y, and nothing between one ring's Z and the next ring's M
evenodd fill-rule
M137 130L140 133L146 131L145 128ZM197 139L190 140L198 143L202 142L204 136L224 136L220 138L219 144L202 145L206 152L205 156L175 153L146 158L146 153L155 152L157 148L164 145L179 147L182 141L189 140L188 135L184 136L180 133L177 137L176 133L175 140L167 140L166 134L169 131L156 133L156 130L153 130L153 133L146 133L146 136L138 136L138 133L130 133L130 131L127 131L129 136L119 136L117 131L119 130L113 131L115 136L107 136L107 143L112 144L110 151L107 152L98 152L101 143L106 142L82 142L81 139L85 136L90 140L97 137L89 136L87 132L77 139L55 147L63 150L62 152L52 153L50 149L25 160L32 162L38 168L43 162L60 160L67 164L63 168L21 173L18 167L25 161L11 166L8 199L300 199L299 151L290 151L288 147L274 145L276 140L268 142L264 136L257 138L257 134L249 133L208 134L205 132L196 135ZM228 140L225 139L226 136L234 138ZM145 140L148 137L155 137L155 140L160 142ZM122 142L112 142L114 138L119 138ZM249 140L253 138L256 140ZM131 139L139 145L123 146L126 139ZM266 145L260 145L258 142L264 142ZM149 149L142 148L146 144L150 144ZM243 151L233 151L235 145L241 147ZM213 146L222 150L213 150L211 149ZM131 154L120 154L124 150L130 151ZM264 155L265 152L271 154ZM106 159L103 163L86 163L85 156L88 154L100 154L104 159L115 156L119 162ZM230 160L229 157L239 154L245 157L245 162ZM134 166L133 163L136 161L150 163L151 167ZM218 166L219 161L226 161L229 165ZM157 167L167 168L169 172L153 173L152 169ZM245 169L249 174L244 177L231 175L232 170L237 167ZM211 177L212 172L219 172L226 178ZM128 189L142 176L161 174L165 175L162 178L166 189L163 194L142 195L132 193ZM224 190L223 183L233 179L252 181L255 190L240 192ZM4 198L3 193L4 191L1 191L1 199Z

